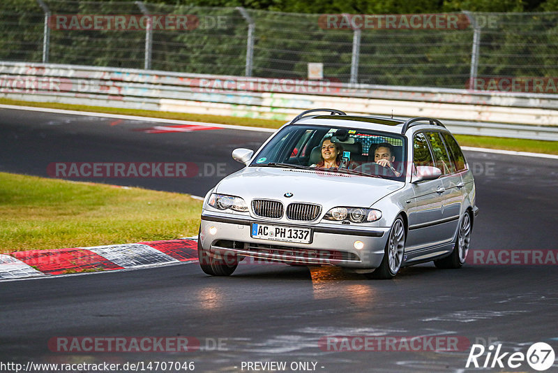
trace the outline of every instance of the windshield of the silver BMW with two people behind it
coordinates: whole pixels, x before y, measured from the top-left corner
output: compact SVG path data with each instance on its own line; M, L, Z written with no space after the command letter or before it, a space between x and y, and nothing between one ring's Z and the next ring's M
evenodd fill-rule
M250 166L328 170L404 180L405 137L359 128L285 126Z

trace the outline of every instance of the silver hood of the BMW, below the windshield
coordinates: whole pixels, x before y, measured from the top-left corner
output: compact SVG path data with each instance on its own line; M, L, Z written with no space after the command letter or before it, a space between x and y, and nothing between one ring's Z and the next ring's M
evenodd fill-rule
M370 207L405 183L379 177L294 168L246 167L223 179L215 193L319 205ZM291 198L285 193L292 193Z

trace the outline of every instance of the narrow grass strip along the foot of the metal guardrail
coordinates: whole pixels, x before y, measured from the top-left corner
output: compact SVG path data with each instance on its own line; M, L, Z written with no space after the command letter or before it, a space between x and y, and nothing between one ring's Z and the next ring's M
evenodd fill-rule
M139 115L142 117L190 120L193 122L234 124L236 126L255 126L269 129L278 129L280 126L285 124L284 121L271 119L225 117L222 115L188 114L180 112L160 112L155 110L103 108L100 106L70 105L66 103L34 103L28 101L8 100L7 98L0 98L0 103L6 105L33 106L39 108L106 112L109 114ZM485 147L488 149L515 150L516 152L558 154L558 141L524 140L520 138L496 138L489 136L467 135L456 135L455 138L457 138L460 145L468 147Z

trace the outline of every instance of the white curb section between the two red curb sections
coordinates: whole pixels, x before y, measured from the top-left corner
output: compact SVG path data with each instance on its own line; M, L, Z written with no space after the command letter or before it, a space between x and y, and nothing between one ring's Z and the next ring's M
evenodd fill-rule
M159 265L179 262L172 256L169 256L162 251L153 249L146 244L118 244L97 247L82 247L81 249L88 249L95 254L107 258L112 263L120 265L123 268L133 268L144 265Z

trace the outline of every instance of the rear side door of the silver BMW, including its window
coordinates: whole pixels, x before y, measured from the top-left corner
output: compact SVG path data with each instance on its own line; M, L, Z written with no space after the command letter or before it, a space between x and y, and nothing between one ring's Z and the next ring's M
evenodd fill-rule
M463 182L460 173L455 168L455 161L446 146L442 133L439 131L428 131L425 133L432 147L432 154L436 167L442 170L443 191L442 197L442 221L437 230L442 241L451 241L455 236L459 223L461 205L463 203Z

